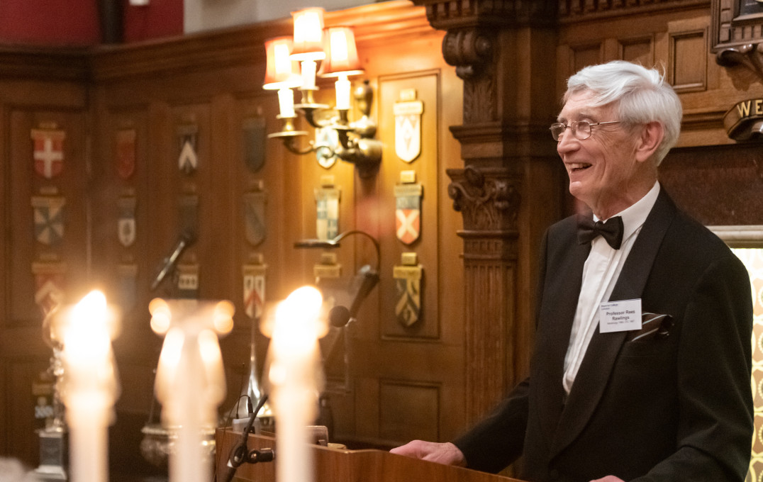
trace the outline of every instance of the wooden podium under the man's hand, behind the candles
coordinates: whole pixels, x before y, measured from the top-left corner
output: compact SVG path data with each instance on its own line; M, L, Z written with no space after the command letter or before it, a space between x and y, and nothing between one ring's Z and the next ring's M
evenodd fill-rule
M241 439L240 432L217 429L215 434L215 481L225 482L230 449ZM275 448L275 439L249 435L249 450ZM344 450L314 445L315 482L520 482L520 480L466 468L421 461L381 450ZM237 482L275 482L274 462L243 464L233 478Z

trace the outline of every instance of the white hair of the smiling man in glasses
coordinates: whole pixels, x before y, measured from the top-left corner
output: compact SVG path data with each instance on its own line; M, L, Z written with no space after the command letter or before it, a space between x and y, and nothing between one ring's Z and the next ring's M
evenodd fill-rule
M657 121L665 136L655 153L659 165L678 141L683 109L673 88L656 69L645 69L635 63L614 60L588 66L571 76L563 101L579 92L593 94L591 107L614 103L619 120L629 124Z

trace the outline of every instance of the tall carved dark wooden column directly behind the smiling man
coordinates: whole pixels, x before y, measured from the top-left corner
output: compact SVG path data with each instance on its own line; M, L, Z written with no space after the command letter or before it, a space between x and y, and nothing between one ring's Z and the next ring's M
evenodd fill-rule
M464 81L452 126L463 169L449 169L462 213L468 422L528 371L537 249L559 218L562 184L549 124L555 85L552 0L414 0L446 30L443 57Z

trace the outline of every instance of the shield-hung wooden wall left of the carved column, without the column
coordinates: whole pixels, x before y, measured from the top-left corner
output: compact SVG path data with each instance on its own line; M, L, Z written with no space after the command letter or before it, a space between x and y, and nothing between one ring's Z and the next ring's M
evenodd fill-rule
M67 303L98 287L121 304L123 327L114 350L122 391L111 428L112 465L116 471L150 474L138 446L140 429L149 423L153 368L162 340L150 331L147 305L155 296L177 294L172 280L154 292L150 285L188 226L185 201L192 199L197 206L191 224L198 239L185 250L181 264L198 265L201 298L230 299L237 306L234 331L221 340L228 387L221 405L224 416L249 368L252 320L243 310L243 266L264 262L270 302L313 282L320 250L298 250L293 243L316 236L314 190L326 177L341 191L340 232L365 230L381 245L381 281L352 330L350 390L330 395L334 437L350 445L379 446L459 432L465 400L460 219L450 207L444 172L460 162L448 127L461 117L462 82L442 56L433 54L439 52L443 33L430 27L423 8L386 2L329 13L327 24L355 27L365 74L354 82L369 79L374 88L372 117L385 149L371 178L359 178L353 165L342 161L324 169L314 154L292 155L275 140L266 141L261 169L246 166L243 125L259 120L268 133L280 128L275 92L261 88L263 45L269 37L289 34L291 22L100 47L74 55L79 64L69 68L79 67L75 79L38 86L30 73L21 72L16 88L23 95L0 86L6 114L0 126L6 146L2 189L11 203L2 214L8 269L2 278L0 451L37 464L31 384L47 368L50 349L40 335L33 263L65 265ZM8 53L10 59L20 55ZM55 70L67 61L53 56L43 67ZM319 85L318 100L333 104L333 82ZM411 88L424 110L421 154L409 164L394 153L393 107L401 91ZM357 118L359 112L351 116ZM60 177L43 182L31 168L30 132L53 123L66 131L66 164ZM197 133L198 169L185 174L178 167L178 132L189 125ZM118 171L118 138L125 132L134 132L135 139L130 175ZM395 237L394 228L394 186L402 171L414 171L423 188L421 235L410 245ZM245 235L244 198L258 189L266 193L267 233L254 246ZM43 191L66 198L66 232L57 249L38 246L32 231L30 199ZM120 203L130 198L135 201L136 236L124 246L118 237ZM346 239L334 252L343 275L375 264L372 246L362 236ZM416 253L423 267L422 316L412 326L398 323L394 314L392 273L404 252ZM267 339L257 328L262 365ZM329 367L335 378L341 375L340 360Z

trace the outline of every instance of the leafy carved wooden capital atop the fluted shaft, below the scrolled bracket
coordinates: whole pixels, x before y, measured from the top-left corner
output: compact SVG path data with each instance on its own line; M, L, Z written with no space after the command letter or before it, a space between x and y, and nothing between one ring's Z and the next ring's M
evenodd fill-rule
M517 230L521 197L507 169L481 171L468 165L447 173L452 179L448 195L453 209L463 214L465 230Z

